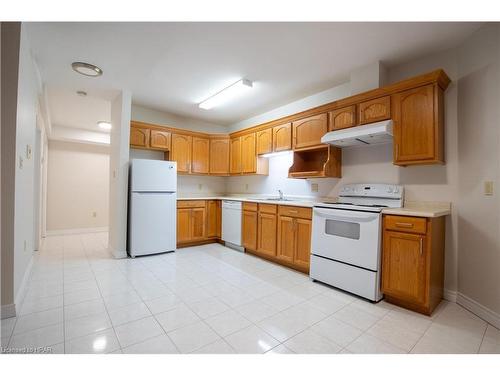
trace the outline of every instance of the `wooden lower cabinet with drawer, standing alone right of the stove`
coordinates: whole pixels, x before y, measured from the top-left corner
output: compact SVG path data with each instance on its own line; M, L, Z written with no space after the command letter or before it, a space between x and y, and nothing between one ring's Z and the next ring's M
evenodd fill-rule
M444 236L444 217L384 215L382 292L388 302L432 314L443 297Z

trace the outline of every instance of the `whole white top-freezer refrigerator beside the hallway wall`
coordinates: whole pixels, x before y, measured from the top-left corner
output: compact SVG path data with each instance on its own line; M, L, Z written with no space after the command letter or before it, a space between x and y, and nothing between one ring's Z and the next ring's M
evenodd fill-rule
M129 194L129 255L175 251L177 163L132 159Z

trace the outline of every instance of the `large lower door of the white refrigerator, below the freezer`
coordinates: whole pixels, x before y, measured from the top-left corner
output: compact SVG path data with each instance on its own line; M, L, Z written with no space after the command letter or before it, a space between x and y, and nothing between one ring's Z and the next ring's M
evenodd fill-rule
M174 251L177 246L177 194L132 193L130 199L129 254Z

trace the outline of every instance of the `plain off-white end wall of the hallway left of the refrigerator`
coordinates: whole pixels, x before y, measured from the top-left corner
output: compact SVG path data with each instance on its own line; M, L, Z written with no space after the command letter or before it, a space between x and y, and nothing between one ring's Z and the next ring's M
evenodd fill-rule
M107 227L109 146L50 140L48 151L47 230Z

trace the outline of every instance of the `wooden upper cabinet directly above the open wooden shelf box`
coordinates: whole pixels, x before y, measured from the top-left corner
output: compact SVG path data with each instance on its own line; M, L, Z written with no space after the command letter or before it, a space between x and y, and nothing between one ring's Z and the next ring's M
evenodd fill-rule
M293 122L293 149L320 146L321 137L328 131L328 116L322 113Z

